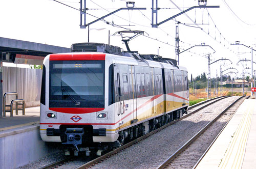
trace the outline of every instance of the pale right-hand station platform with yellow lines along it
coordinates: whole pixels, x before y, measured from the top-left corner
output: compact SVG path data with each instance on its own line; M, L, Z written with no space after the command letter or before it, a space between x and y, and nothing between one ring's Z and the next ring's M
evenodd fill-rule
M201 168L256 168L256 99L246 99L202 158Z

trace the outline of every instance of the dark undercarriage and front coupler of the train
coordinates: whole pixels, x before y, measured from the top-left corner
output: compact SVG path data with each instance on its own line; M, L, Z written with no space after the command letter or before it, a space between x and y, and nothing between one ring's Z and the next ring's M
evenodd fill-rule
M59 135L61 138L61 149L65 151L65 155L102 155L117 147L131 142L144 134L147 134L161 126L164 126L172 121L181 118L186 114L187 107L169 112L168 114L157 118L145 121L133 127L119 131L119 137L115 142L109 143L94 143L93 136L105 136L105 132L100 129L93 129L91 125L62 125L60 129L54 129L54 135ZM49 135L49 131L48 134Z

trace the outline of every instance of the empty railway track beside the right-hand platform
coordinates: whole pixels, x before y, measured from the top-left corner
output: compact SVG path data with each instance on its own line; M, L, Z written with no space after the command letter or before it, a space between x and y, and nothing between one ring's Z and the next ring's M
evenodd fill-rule
M222 115L224 115L224 113L230 107L232 107L242 98L243 97L238 98L231 105L225 108L215 119L210 121L204 128L202 128L198 133L196 133L192 138L190 138L188 142L186 142L180 149L178 149L174 154L169 156L163 163L161 163L157 167L157 169L161 169L161 168L193 168L194 169L196 168L196 166L199 164L201 159L207 153L211 145L214 144L215 140L217 139L217 137L219 136L221 131L225 128L225 126L227 125L227 123L231 118L229 118L228 122L224 125L224 127L221 129L219 134L216 137L214 137L214 141L212 141L211 143L207 141L207 139L209 139L209 135L207 135L207 131L211 131L212 130L211 128L216 127L214 126L214 123L216 123L217 120ZM184 158L186 160L184 160Z

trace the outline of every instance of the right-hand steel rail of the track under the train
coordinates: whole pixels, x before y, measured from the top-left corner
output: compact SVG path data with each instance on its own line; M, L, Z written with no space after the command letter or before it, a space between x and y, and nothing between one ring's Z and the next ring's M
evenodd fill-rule
M203 109L203 108L205 108L205 107L207 107L207 106L209 106L209 105L211 105L211 104L213 104L213 103L215 103L215 102L217 102L217 101L220 101L220 100L222 100L222 99L224 99L224 98L227 98L227 97L230 97L230 96L222 96L221 98L218 97L218 98L219 98L218 100L215 100L215 101L213 101L213 102L211 102L211 103L208 103L208 104L206 104L206 105L200 107L199 109L196 109L196 110L190 112L189 114L183 116L183 117L180 118L180 119L177 119L177 120L175 120L175 121L172 121L172 122L170 122L170 123L168 123L168 124L166 124L166 125L164 125L164 126L158 128L158 129L156 129L156 130L154 130L154 131L151 131L150 133L147 133L147 134L145 134L145 135L143 135L143 136L141 136L141 137L139 137L139 138L136 138L136 139L133 140L132 142L129 142L129 143L127 143L127 144L125 144L125 145L123 145L123 146L121 146L121 147L119 147L119 148L117 148L117 149L115 149L115 150L113 150L113 151L111 151L111 152L109 152L109 153L106 153L106 154L104 154L104 155L102 155L102 156L100 156L100 157L98 157L98 158L95 158L95 159L92 160L92 161L89 161L89 162L87 162L87 163L85 163L85 164L82 164L82 165L76 167L75 169L84 169L84 168L88 168L88 167L90 167L90 166L94 166L95 164L97 164L97 163L99 163L100 161L103 161L104 159L106 159L106 158L108 158L108 157L110 157L110 156L112 156L112 155L118 153L119 151L124 150L124 149L126 149L126 148L132 146L133 144L138 143L138 142L140 142L141 140L147 138L148 136L151 136L151 135L153 135L153 134L155 134L155 133L157 133L157 132L163 130L164 128L166 128L166 127L168 127L168 126L173 125L174 123L176 123L176 122L178 122L178 121L180 121L180 120L182 120L182 119L185 119L185 118L187 118L187 117L189 117L189 116L195 114L195 113L198 112L199 110L201 110L201 109ZM210 101L211 101L211 100L210 100ZM205 102L204 102L204 103L205 103ZM200 105L201 105L201 104L200 104ZM194 107L193 107L193 108L194 108Z

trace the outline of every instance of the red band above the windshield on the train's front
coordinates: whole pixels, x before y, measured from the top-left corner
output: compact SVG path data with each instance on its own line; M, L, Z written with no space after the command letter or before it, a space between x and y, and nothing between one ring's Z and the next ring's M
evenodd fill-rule
M57 53L50 54L50 61L104 61L105 53Z

